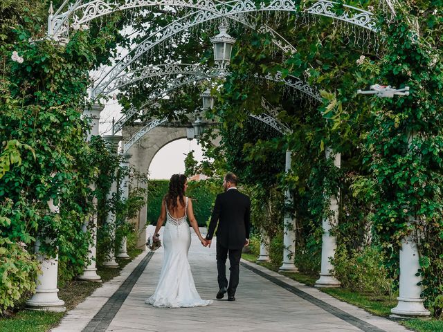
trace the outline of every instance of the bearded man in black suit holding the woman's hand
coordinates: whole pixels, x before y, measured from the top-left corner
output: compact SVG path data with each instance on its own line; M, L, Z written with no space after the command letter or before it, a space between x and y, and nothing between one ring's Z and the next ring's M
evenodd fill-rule
M249 244L249 224L251 221L251 200L237 190L237 176L228 173L224 177L224 193L215 199L213 215L209 223L206 240L208 245L213 239L217 226L217 271L219 292L217 299L222 299L228 292L228 301L235 301L238 286L239 264L242 248ZM229 284L226 279L226 259L229 254Z

